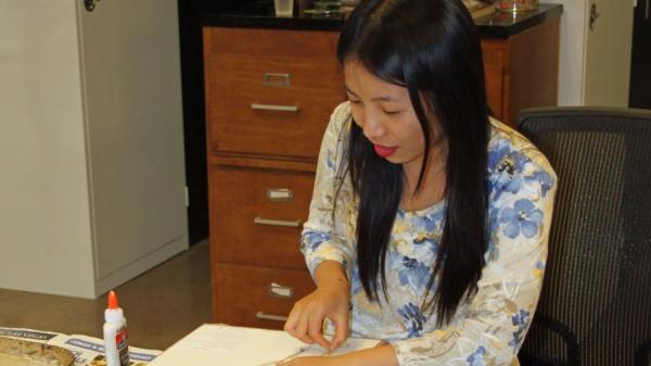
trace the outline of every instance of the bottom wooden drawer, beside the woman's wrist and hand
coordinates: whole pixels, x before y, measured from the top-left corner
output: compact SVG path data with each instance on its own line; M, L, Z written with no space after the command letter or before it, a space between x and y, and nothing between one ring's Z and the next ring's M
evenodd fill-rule
M307 269L213 263L213 316L233 326L282 329L296 300L314 291Z

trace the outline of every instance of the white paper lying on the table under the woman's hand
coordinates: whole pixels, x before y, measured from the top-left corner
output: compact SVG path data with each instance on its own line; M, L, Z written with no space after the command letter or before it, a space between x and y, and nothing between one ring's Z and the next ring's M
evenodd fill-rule
M205 324L182 338L150 366L273 366L293 357L339 355L369 349L380 341L348 340L333 353L318 344L307 345L281 330Z

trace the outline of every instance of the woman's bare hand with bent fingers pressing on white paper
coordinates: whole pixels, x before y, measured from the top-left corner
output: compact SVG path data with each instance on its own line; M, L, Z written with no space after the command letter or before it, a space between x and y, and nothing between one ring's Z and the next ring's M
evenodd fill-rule
M317 289L294 304L284 330L305 343L318 343L326 350L334 351L348 337L350 289L339 263L323 262L317 268L316 277ZM326 318L335 328L332 343L323 338Z

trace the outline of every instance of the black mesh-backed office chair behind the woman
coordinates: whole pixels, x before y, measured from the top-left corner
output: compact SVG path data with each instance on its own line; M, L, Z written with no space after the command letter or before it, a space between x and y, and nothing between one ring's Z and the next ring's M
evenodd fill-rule
M523 111L559 177L523 366L651 365L651 111Z

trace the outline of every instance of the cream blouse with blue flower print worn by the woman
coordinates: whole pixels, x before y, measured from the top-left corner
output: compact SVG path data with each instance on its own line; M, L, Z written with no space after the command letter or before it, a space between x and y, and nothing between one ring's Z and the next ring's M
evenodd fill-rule
M350 123L346 102L336 108L323 136L301 240L312 275L327 260L344 266L352 291L350 336L388 341L403 366L518 365L547 258L557 178L545 156L513 129L490 121L486 266L478 292L459 305L447 326L437 328L436 313L422 312L420 304L436 260L445 200L416 212L398 209L385 262L388 300L380 294L379 302L370 302L356 263L357 202L349 177L333 205Z

